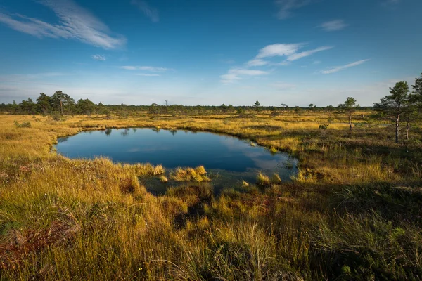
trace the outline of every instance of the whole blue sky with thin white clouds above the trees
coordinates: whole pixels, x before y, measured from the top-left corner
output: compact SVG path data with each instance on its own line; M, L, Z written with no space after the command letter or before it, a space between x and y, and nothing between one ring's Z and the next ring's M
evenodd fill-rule
M0 103L364 106L422 72L421 0L1 0Z

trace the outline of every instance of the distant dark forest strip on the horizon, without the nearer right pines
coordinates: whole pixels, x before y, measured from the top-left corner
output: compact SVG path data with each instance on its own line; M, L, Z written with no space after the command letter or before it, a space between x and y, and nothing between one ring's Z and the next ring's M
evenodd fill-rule
M237 113L242 114L245 112L260 112L271 111L274 115L277 112L301 112L317 111L317 112L334 112L340 109L341 105L334 107L328 105L326 107L316 107L310 104L309 107L289 107L286 104L264 107L257 101L250 106L233 106L233 105L104 105L103 103L95 104L91 100L75 99L62 91L56 91L51 96L45 93L40 93L37 100L28 98L22 100L20 103L1 103L0 113L8 115L108 115L112 112L118 115L129 115L136 112L146 112L149 114L170 114L170 115L209 115L217 113ZM372 107L360 107L360 109L371 109Z

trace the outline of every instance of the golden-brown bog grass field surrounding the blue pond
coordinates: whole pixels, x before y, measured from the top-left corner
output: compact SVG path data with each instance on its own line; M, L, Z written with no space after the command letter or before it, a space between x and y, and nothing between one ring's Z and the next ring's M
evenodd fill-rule
M0 116L0 280L422 280L421 124L395 144L370 113L352 133L318 112ZM162 166L52 151L60 136L125 127L228 133L289 152L300 172L214 197L202 168L179 170L201 183L155 197L138 178Z

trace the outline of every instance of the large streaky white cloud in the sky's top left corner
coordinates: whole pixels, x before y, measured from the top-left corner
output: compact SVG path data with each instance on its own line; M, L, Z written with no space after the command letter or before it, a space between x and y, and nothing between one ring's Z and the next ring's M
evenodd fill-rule
M123 36L113 35L107 25L72 0L40 0L38 3L51 8L59 22L51 24L25 15L6 13L0 13L0 22L39 38L74 39L106 49L126 44Z

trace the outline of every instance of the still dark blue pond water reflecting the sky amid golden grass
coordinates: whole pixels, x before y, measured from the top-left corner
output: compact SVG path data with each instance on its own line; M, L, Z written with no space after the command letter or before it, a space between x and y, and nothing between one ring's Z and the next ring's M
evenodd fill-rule
M297 160L283 152L271 153L250 141L217 133L157 129L107 129L59 138L58 153L70 158L108 157L113 162L162 164L167 171L203 165L215 192L241 189L242 181L255 183L259 171L279 174L283 181L297 173ZM162 194L180 183L141 179L146 188Z

